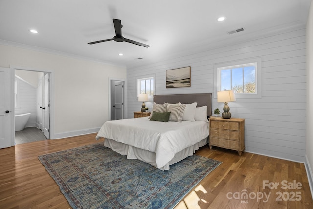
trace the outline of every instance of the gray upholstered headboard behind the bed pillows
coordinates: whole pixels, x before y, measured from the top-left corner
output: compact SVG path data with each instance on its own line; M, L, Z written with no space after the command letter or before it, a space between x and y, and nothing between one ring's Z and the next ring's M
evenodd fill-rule
M154 95L153 101L157 104L179 103L191 104L197 102L197 107L207 106L207 115L212 116L211 107L212 93L192 93L192 94L169 94L169 95Z

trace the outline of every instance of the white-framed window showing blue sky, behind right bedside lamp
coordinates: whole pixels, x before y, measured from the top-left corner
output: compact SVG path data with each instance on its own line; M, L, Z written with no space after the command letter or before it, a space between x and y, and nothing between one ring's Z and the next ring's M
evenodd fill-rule
M232 89L237 98L261 98L261 69L261 59L216 65L215 89Z

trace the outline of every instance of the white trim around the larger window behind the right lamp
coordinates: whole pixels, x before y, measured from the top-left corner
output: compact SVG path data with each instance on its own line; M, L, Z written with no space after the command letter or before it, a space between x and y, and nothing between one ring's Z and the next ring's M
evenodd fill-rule
M262 98L262 58L243 59L225 63L214 64L214 98L217 98L217 91L220 91L220 69L235 66L244 66L247 64L256 63L255 81L256 93L235 93L236 98Z

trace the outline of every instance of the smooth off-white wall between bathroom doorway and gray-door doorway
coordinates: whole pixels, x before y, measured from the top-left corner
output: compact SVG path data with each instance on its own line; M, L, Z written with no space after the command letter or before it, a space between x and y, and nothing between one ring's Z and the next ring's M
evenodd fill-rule
M109 77L126 79L126 67L0 45L0 66L53 74L54 133L62 138L98 130L109 120Z

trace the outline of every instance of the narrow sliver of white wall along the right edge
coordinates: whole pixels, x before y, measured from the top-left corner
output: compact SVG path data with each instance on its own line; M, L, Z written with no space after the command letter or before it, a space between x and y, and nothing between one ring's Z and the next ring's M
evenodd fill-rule
M313 196L313 2L307 22L307 131L306 131L306 156L309 183Z

